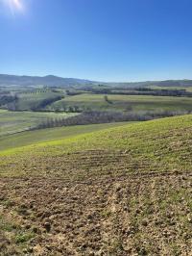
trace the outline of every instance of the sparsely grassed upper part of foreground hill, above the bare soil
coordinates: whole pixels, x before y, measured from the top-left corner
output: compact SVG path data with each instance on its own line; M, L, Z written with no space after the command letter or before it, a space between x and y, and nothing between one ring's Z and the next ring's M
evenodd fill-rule
M192 115L184 115L42 142L2 151L1 175L77 179L134 171L189 170L191 134Z

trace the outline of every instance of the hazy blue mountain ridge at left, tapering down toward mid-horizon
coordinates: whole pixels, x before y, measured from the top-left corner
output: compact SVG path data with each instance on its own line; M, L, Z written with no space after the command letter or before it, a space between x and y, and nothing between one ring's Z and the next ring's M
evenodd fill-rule
M62 78L58 76L48 75L44 77L39 76L16 76L0 74L1 86L47 86L47 87L70 87L70 86L85 86L93 85L94 82L76 79L76 78Z

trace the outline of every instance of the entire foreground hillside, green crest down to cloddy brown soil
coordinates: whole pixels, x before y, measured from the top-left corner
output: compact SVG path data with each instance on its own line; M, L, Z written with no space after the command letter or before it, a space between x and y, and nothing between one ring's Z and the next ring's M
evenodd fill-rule
M191 255L191 140L183 115L1 151L3 252Z

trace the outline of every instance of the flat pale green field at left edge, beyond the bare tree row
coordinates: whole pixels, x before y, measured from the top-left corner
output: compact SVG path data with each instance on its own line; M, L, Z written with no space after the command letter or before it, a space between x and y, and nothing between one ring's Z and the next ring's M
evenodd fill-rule
M49 118L65 118L76 114L43 112L10 112L0 110L0 138L8 134L28 130Z

